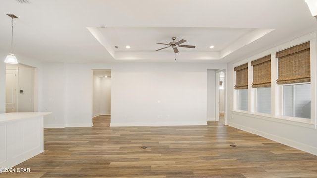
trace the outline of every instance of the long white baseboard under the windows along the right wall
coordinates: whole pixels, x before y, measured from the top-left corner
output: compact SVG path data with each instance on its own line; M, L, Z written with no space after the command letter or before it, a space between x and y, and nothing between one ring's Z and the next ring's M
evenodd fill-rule
M237 128L237 129L240 129L240 130L243 130L243 131L246 131L246 132L249 132L249 133L252 133L252 134L256 134L256 135L262 136L264 138L276 141L278 143L282 143L282 144L285 144L287 146L290 146L290 147L293 147L293 148L296 148L296 149L311 153L313 155L317 155L317 148L315 148L315 147L312 147L312 146L309 146L309 145L306 145L306 144L303 144L303 143L299 143L299 142L296 142L296 141L293 141L293 140L289 140L289 139L286 139L286 138L283 138L283 137L279 137L279 136L276 136L276 135L273 135L273 134L264 133L262 131L258 131L258 130L255 130L255 129L252 129L252 128L249 128L249 127L245 127L245 126L242 126L240 124L235 124L235 123L232 123L232 122L228 122L227 125L229 125L231 127L234 127L234 128Z

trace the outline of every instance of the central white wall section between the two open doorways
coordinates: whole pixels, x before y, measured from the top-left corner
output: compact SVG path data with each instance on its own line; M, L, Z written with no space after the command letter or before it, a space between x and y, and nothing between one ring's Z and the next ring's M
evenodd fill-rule
M111 80L111 126L207 124L201 65L122 64Z

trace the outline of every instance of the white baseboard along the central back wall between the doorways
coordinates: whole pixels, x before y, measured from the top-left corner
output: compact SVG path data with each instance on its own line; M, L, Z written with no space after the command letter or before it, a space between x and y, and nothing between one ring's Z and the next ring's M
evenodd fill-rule
M125 126L195 126L195 125L207 125L206 121L201 122L182 122L182 123L173 123L173 122L158 122L158 123L110 123L110 127L125 127Z

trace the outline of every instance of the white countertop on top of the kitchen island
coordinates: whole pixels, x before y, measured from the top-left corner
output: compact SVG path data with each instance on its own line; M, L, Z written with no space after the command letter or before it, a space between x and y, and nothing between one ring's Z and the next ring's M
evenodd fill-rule
M0 114L0 124L21 119L34 118L51 114L51 112L14 112Z

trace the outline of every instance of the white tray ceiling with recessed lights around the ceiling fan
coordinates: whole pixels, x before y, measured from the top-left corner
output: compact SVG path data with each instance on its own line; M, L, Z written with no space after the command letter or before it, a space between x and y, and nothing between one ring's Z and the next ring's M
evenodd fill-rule
M19 17L17 58L45 62L229 62L317 31L304 0L28 1L0 1L2 58L11 51L6 14ZM155 51L172 37L196 48Z

